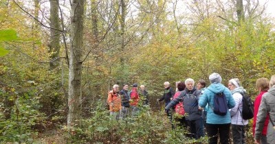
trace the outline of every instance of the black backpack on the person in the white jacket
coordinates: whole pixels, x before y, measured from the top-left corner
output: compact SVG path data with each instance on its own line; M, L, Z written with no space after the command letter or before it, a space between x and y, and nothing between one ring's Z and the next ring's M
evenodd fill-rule
M243 110L241 112L241 115L245 120L252 119L254 117L254 103L250 96L245 95L245 93L241 93L241 95L243 95Z

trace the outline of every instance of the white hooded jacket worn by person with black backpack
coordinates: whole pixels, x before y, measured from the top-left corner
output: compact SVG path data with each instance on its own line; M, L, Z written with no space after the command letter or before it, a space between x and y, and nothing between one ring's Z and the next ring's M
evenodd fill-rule
M233 125L247 125L248 120L243 119L241 116L241 112L243 111L243 95L241 93L244 93L244 89L242 86L235 88L231 91L232 97L235 101L235 106L230 110L231 115L231 124Z

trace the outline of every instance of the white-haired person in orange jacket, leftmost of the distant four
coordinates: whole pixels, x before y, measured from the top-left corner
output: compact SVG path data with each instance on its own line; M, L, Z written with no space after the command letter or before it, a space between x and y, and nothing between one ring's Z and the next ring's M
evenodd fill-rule
M113 85L113 90L109 91L107 102L109 104L110 116L113 119L117 119L120 116L121 109L121 99L119 95L119 86L118 84Z

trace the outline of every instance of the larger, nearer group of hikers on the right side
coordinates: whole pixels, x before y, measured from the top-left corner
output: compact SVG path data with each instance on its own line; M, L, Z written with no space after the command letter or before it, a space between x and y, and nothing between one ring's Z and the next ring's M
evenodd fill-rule
M190 138L199 139L204 135L206 127L209 143L229 143L230 127L234 144L245 143L245 125L248 119L243 119L243 97L246 93L238 78L228 81L228 86L221 84L221 76L212 73L209 76L210 86L199 80L197 87L191 78L185 82L176 82L176 92L164 82L164 97L157 101L165 101L165 110L170 117L171 108L175 113L182 115L175 119L179 126L188 130ZM254 101L253 136L255 143L275 143L275 75L271 80L259 78L256 80L256 89L259 95ZM218 115L214 112L217 104L215 95L223 93L226 98L227 112ZM205 121L205 123L203 122Z

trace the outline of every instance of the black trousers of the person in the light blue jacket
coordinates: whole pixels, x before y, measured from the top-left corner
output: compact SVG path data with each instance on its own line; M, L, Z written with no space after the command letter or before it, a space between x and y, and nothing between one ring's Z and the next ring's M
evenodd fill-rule
M206 130L209 136L209 141L208 141L209 144L217 144L218 136L221 144L229 143L230 123L226 123L226 124L206 123Z

